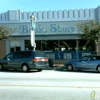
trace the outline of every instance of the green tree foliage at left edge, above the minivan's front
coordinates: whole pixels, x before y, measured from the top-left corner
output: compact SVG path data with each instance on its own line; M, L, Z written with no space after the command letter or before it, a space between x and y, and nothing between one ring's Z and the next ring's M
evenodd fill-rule
M11 37L12 29L6 26L0 26L0 41Z

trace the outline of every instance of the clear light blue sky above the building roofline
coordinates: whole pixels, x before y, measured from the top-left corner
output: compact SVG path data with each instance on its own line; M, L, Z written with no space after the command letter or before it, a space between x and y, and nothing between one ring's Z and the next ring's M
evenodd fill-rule
M8 10L49 11L90 9L100 6L100 0L0 0L0 13Z

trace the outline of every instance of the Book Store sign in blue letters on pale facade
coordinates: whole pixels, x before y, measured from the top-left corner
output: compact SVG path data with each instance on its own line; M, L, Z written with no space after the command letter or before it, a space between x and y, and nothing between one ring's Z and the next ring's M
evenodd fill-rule
M20 32L21 33L29 33L31 27L28 25L20 25ZM35 33L76 33L77 27L76 26L60 26L57 24L51 24L50 26L42 26L38 24L35 29Z

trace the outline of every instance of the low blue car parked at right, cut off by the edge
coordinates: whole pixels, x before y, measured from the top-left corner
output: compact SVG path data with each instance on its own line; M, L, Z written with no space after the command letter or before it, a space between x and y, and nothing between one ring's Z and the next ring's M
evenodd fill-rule
M68 71L91 70L100 72L100 55L88 55L79 60L68 61L64 64Z

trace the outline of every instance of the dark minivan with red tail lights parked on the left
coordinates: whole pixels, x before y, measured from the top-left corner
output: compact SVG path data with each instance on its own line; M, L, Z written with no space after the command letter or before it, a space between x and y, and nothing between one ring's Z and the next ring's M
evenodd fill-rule
M22 71L27 72L31 69L42 71L48 67L48 58L41 51L11 52L0 60L0 70L22 69Z

